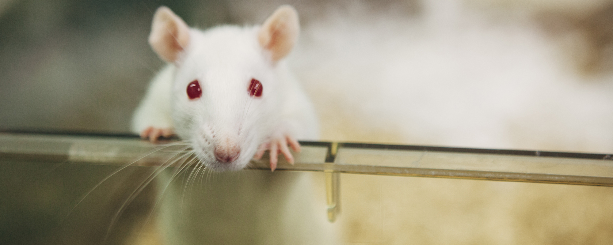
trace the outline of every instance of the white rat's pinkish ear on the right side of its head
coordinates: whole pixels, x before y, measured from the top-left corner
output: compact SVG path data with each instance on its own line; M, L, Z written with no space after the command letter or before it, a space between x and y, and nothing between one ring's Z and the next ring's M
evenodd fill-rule
M284 5L264 21L257 40L262 48L270 51L273 61L278 61L292 50L299 32L298 13L294 7Z

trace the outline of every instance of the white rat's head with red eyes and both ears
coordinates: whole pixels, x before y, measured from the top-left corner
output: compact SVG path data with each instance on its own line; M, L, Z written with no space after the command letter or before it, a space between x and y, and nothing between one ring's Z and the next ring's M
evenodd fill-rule
M212 170L239 170L280 124L283 81L278 62L299 32L290 6L279 7L262 26L190 29L160 7L149 43L176 69L172 117L177 134L192 142Z

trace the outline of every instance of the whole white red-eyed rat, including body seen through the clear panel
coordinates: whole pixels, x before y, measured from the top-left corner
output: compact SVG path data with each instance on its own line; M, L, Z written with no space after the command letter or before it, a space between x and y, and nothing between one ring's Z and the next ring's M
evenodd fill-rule
M206 31L188 28L167 7L156 10L149 43L169 64L151 81L132 130L151 141L176 132L217 172L189 197L185 183L161 175L168 244L335 243L324 203L317 209L310 194L310 173L226 171L242 170L267 149L274 170L279 151L293 162L287 145L299 151L296 138L319 137L313 106L283 61L298 34L291 6L262 26Z

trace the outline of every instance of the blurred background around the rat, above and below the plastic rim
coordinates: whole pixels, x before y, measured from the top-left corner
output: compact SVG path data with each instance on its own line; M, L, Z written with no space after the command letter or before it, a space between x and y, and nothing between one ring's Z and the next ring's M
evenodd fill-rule
M128 132L164 65L147 43L158 6L205 29L285 3L302 25L289 64L324 140L613 151L608 0L0 0L0 129ZM113 170L3 163L0 241L98 243L143 170L69 211ZM153 196L107 244L158 244L143 223ZM344 175L342 198L346 244L613 243L608 187Z

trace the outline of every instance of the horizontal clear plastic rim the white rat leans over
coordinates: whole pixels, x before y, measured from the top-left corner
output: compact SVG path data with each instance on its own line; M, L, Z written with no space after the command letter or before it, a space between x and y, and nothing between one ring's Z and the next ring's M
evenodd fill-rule
M302 142L278 170L613 186L611 154ZM333 146L337 147L333 151ZM182 146L181 146L182 147ZM0 134L2 160L154 166L180 149L126 135ZM269 168L266 156L251 167Z

